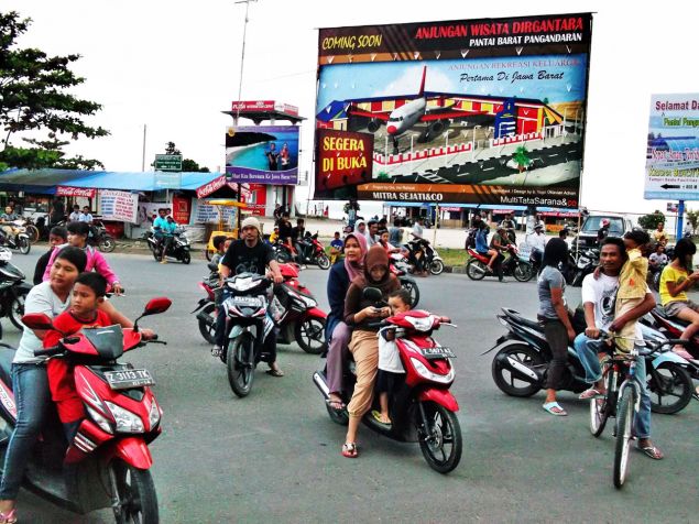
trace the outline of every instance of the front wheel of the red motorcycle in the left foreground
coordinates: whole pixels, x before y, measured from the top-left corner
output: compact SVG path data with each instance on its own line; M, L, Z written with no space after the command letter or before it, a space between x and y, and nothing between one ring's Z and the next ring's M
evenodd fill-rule
M157 495L149 470L133 468L121 459L109 463L112 495L118 502L112 506L118 524L157 524Z

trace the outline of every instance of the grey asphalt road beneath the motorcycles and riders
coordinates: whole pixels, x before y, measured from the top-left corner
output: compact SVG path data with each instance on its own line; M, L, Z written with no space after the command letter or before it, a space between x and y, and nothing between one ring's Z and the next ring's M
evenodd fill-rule
M17 254L13 262L31 274L39 254ZM494 318L500 306L535 313L533 283L474 283L450 274L419 281L421 306L450 315L459 326L438 334L458 354L452 392L465 444L460 466L441 476L417 445L365 427L360 457L341 457L345 428L328 418L312 382L323 361L295 346L280 350L285 378L259 371L251 395L237 399L189 314L200 296L203 260L189 266L163 266L145 255L109 260L128 288L116 298L125 313L135 315L153 296L173 299L168 313L143 321L170 345L128 356L153 372L165 411L163 435L151 446L164 523L696 522L698 402L678 415L653 416L666 458L633 452L631 477L616 491L611 429L600 439L590 435L587 403L561 393L570 416L553 417L540 407L543 393L512 399L495 387L492 353L479 354L503 332ZM327 274L302 273L321 305ZM579 290L567 296L577 304ZM4 341L15 342L17 330L2 324ZM112 522L108 511L78 517L26 492L19 511L21 522Z

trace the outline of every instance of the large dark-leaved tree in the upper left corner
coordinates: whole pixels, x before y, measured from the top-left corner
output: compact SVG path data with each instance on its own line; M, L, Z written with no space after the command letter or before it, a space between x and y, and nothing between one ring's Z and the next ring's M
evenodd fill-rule
M20 19L15 11L0 13L0 137L1 167L62 167L94 170L102 163L81 155L66 157L62 148L80 137L95 139L109 132L85 123L101 109L101 105L74 97L67 90L85 78L76 76L69 66L80 55L48 56L41 50L20 48L31 19ZM47 140L22 138L32 148L11 143L15 133L47 132Z

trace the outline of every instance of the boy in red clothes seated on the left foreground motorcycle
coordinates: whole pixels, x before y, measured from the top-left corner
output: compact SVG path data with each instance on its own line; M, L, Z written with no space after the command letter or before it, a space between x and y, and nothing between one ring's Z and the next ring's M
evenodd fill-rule
M70 307L58 315L53 325L56 330L46 332L44 348L56 346L58 341L83 330L83 328L111 326L107 313L98 309L105 301L107 280L95 272L80 273L70 292ZM75 389L73 367L65 359L51 359L46 364L51 399L56 404L58 417L68 441L85 418L83 401Z

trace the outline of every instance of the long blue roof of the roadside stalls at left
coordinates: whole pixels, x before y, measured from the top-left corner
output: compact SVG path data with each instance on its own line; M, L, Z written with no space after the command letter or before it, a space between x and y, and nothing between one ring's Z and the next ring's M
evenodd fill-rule
M160 176L159 176L160 175ZM196 190L221 176L220 173L118 172L79 170L8 170L0 173L0 190L56 193L57 186L92 189L121 189L156 192L166 186L165 178L182 175L178 187L172 189Z

